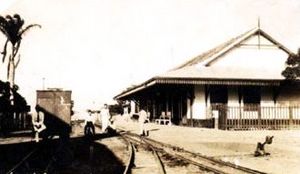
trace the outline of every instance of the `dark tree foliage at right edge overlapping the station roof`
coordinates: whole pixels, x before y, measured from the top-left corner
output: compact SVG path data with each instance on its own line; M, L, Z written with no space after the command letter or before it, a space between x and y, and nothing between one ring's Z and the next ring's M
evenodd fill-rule
M297 54L292 54L286 61L287 67L282 75L288 80L295 80L300 77L300 49Z

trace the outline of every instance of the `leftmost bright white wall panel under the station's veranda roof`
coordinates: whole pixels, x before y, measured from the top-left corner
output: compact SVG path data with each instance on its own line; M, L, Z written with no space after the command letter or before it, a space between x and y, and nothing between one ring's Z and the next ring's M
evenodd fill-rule
M192 106L194 119L206 119L205 90L202 85L195 85L195 98Z

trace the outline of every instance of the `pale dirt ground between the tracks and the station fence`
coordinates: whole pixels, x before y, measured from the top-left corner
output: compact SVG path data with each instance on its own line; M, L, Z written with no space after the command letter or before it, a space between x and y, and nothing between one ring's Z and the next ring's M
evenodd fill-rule
M139 125L118 117L117 128L138 133ZM149 138L266 173L299 173L300 130L223 131L149 123ZM274 136L265 149L270 156L254 157L257 142Z

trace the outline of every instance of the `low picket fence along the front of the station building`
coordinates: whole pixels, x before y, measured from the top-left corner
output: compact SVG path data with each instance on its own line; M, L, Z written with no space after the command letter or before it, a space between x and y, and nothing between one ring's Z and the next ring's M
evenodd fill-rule
M300 128L300 106L226 106L209 108L217 113L219 129L295 129ZM216 115L215 115L216 117Z

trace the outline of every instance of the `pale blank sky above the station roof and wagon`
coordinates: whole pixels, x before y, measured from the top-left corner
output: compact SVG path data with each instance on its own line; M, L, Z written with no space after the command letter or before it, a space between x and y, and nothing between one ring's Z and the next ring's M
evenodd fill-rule
M257 26L300 47L299 0L1 0L32 28L22 40L16 84L72 90L75 109L101 107L142 83ZM5 38L0 34L0 48ZM0 79L6 80L5 64ZM33 108L33 107L32 107Z

